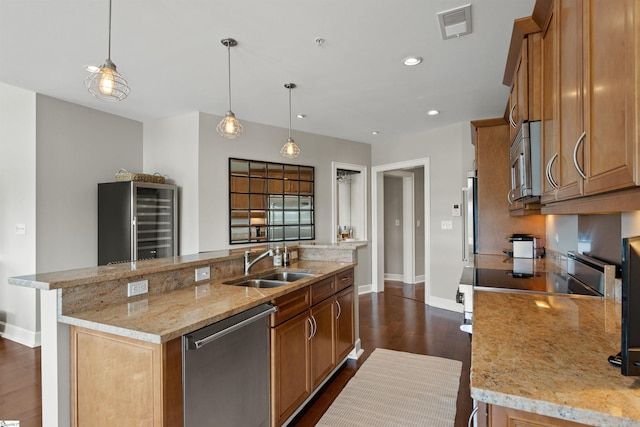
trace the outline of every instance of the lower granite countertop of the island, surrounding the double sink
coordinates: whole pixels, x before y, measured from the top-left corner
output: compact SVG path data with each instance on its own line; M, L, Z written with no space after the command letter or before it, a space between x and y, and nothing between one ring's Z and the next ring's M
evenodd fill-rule
M142 341L164 343L353 266L355 263L294 261L285 270L308 271L314 275L278 288L260 289L223 284L244 276L201 281L169 292L141 295L97 309L60 315L59 321Z

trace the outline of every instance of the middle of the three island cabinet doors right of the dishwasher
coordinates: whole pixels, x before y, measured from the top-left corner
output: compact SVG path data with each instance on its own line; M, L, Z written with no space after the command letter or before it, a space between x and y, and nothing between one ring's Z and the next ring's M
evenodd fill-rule
M336 365L335 360L335 297L311 307L315 334L311 339L311 378L313 388L317 387Z

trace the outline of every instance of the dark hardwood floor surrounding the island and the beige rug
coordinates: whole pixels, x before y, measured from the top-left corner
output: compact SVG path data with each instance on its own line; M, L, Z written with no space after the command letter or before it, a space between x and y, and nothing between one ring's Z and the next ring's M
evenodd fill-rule
M471 340L459 330L462 314L424 305L424 285L386 282L385 292L360 296L360 337L364 354L349 360L293 423L313 426L376 347L462 361L455 427L467 425ZM40 349L0 338L0 420L20 427L42 425Z

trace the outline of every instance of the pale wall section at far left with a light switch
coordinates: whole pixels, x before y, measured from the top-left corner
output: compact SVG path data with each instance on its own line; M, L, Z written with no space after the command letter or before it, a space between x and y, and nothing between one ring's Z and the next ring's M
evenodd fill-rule
M0 334L32 347L40 342L39 294L7 278L36 270L35 120L35 93L0 83Z

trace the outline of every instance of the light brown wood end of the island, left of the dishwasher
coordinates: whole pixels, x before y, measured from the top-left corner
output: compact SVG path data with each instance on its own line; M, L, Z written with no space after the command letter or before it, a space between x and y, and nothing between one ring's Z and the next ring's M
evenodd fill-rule
M71 327L71 424L181 426L182 346Z

